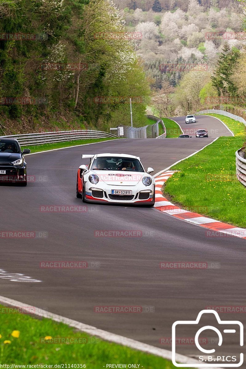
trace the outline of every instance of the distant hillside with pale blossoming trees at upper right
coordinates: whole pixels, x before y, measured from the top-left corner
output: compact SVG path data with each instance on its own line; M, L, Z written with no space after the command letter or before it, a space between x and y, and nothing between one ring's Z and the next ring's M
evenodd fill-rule
M243 2L115 3L127 30L142 35L135 49L153 92L152 104L161 115L185 115L223 106L244 114L240 109L246 105Z

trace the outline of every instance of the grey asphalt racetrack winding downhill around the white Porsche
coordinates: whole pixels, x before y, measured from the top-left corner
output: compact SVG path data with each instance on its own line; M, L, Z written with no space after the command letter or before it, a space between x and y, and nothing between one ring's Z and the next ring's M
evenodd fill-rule
M204 228L153 208L87 204L84 212L41 211L42 206L84 206L75 196L77 168L87 163L82 153L138 155L145 169L152 166L157 173L215 137L231 135L212 117L197 117L195 124L176 120L183 130L207 128L209 138L118 139L26 156L34 179L27 187L0 186L0 230L41 233L0 238L0 268L42 282L0 277L0 294L165 349L171 345L160 339L171 337L174 321L194 320L207 306L243 306L244 239L207 237ZM101 230L141 231L141 237L96 237ZM91 268L41 268L44 261L86 261ZM164 261L220 267L161 269ZM97 313L98 306L140 306L145 312ZM246 323L245 314L221 318ZM227 347L232 345L239 352L234 342ZM186 354L187 348L180 346L179 352Z

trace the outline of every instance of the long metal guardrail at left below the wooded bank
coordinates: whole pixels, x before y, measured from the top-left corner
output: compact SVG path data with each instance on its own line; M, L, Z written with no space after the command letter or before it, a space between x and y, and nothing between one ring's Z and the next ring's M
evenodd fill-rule
M59 131L59 132L42 132L28 133L25 135L0 136L0 138L16 138L21 146L23 145L39 145L53 142L64 142L78 139L115 137L108 132L93 130L75 130L75 131Z

